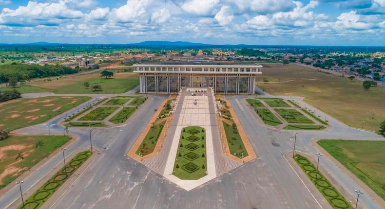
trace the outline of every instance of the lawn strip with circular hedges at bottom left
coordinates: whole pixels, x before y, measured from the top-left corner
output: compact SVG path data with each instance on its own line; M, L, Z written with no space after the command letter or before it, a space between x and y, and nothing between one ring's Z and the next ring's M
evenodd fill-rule
M67 162L66 167L61 168L50 180L42 187L34 192L28 199L24 201L25 209L38 209L44 202L64 184L64 182L75 173L75 171L91 156L90 151L85 151L77 154L70 162ZM22 205L18 209L24 209Z

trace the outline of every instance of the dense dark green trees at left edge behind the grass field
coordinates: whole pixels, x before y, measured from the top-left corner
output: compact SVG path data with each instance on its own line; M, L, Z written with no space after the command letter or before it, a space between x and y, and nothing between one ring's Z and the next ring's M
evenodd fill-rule
M50 76L60 76L65 74L77 73L77 69L61 65L26 65L12 63L0 65L0 83L8 83L9 80L16 79L18 82L33 78L43 78Z

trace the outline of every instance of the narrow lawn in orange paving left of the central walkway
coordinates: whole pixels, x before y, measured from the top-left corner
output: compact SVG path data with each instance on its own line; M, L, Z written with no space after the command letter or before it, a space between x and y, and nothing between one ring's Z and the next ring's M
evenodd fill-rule
M159 124L153 125L149 132L147 133L146 137L136 150L136 155L139 156L146 156L150 153L154 152L154 148L156 146L156 142L159 139L160 133L162 132L162 129L164 127L164 124L166 121L161 122Z

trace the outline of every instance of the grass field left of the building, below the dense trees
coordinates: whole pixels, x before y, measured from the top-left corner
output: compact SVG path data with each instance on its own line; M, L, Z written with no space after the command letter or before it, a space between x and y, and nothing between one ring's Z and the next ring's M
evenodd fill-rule
M102 87L101 91L93 91L90 87L84 87L84 82L89 82L90 86L94 83ZM124 93L139 85L139 79L135 73L119 72L115 73L111 79L100 77L100 73L84 74L77 76L64 76L62 78L39 80L28 82L24 86L17 86L16 89L21 93L32 92L54 92L54 93L79 93L79 94L105 94L105 93ZM11 87L1 87L0 91L11 89Z

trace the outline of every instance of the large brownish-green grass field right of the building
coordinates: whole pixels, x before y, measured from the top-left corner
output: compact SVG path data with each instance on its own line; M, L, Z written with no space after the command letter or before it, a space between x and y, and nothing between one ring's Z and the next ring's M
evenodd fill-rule
M364 90L360 81L350 81L346 77L294 64L267 63L263 65L262 72L261 77L267 78L270 83L265 84L260 79L258 86L268 93L306 97L305 102L350 126L361 128L365 121L364 128L378 130L380 122L385 119L385 87ZM282 83L284 81L289 82Z

